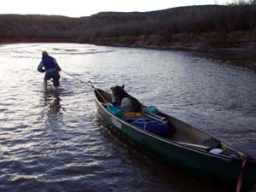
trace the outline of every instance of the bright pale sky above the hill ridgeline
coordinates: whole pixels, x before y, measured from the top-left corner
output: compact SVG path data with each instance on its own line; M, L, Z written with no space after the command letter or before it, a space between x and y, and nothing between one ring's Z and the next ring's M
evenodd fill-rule
M3 0L0 14L90 16L101 11L151 11L227 0Z

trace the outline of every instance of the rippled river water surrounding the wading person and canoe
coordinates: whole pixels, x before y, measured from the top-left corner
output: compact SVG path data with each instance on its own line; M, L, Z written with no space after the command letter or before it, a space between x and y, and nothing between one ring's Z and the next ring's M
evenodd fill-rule
M0 46L1 191L225 191L165 165L114 136L96 117L92 91L61 73L61 93L45 94L40 54L109 90L256 157L256 74L186 52L87 44Z

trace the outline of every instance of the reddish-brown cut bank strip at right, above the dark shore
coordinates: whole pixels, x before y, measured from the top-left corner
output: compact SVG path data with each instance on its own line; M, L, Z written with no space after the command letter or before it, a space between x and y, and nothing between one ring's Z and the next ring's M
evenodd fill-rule
M149 49L210 51L212 49L256 49L256 30L235 32L176 33L161 35L95 38L89 44Z

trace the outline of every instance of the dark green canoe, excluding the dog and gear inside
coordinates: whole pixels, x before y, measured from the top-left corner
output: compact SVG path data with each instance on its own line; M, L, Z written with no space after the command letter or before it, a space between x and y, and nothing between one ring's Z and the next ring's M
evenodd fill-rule
M108 111L106 104L112 101L111 94L96 88L94 94L100 119L125 139L135 143L138 148L148 151L183 172L207 179L211 183L219 183L234 191L238 180L242 182L242 191L253 189L256 184L256 160L247 154L162 112L147 116L160 121L165 119L175 128L175 133L171 137L163 137L146 131ZM214 146L214 143L217 145ZM243 163L245 166L242 168ZM241 178L238 179L239 177Z

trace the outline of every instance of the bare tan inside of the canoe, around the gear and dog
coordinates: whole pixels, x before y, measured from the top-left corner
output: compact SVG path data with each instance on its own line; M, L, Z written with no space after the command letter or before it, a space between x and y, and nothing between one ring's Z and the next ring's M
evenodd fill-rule
M112 96L108 92L105 92L103 90L98 90L95 92L96 99L99 102L111 102ZM101 96L99 96L101 95ZM103 101L103 98L105 101ZM231 157L235 156L236 158L241 158L245 154L242 154L240 151L236 150L235 148L230 147L228 144L221 142L217 138L211 137L207 135L207 133L200 131L196 129L195 127L188 125L178 119L173 118L172 116L169 116L165 113L159 113L160 116L166 117L166 120L175 127L176 131L175 134L172 137L161 137L161 139L166 139L167 141L171 141L173 143L178 143L183 145L185 144L185 147L195 148L198 150L204 150L209 151L210 149L202 149L199 148L200 146L204 146L205 141L213 141L214 143L218 143L218 148L223 150L223 153L218 154L221 156ZM157 136L159 137L159 136ZM189 143L189 146L186 145L186 143Z

